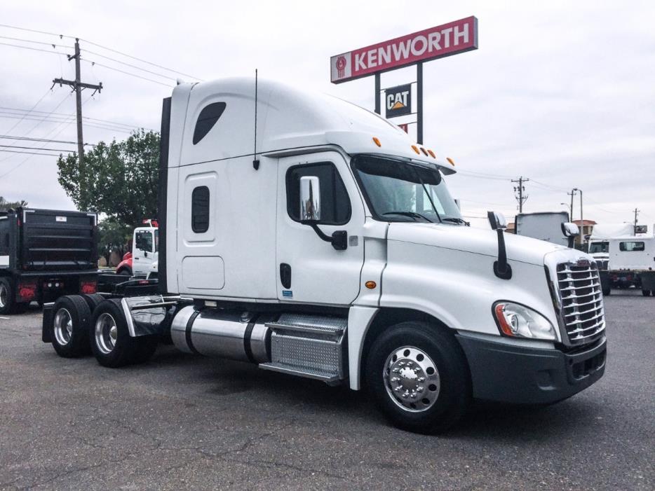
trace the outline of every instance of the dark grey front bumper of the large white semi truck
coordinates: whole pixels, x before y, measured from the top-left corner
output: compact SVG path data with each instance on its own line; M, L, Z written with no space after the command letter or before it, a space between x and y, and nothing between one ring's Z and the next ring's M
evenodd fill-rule
M456 336L471 368L475 399L553 403L586 389L605 373L606 338L584 351L567 354Z

